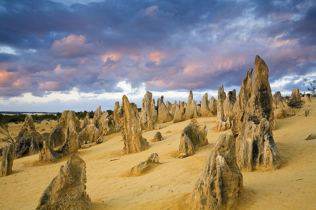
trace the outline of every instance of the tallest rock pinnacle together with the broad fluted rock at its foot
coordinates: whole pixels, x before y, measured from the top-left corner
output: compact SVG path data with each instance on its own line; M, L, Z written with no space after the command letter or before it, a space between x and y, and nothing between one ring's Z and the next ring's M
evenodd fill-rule
M274 115L268 72L267 65L257 55L251 97L246 102L241 131L236 138L237 165L241 171L267 171L280 167L280 155L270 123L274 121Z

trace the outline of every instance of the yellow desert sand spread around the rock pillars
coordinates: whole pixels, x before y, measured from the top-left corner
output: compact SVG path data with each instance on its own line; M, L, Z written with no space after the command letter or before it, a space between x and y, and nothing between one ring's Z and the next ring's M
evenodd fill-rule
M310 109L307 117L306 108ZM270 172L243 172L244 195L239 209L316 208L316 139L304 140L316 133L316 103L295 111L293 117L276 119L277 130L273 131L281 168ZM86 186L92 201L89 209L189 209L185 199L200 176L205 160L219 135L229 133L229 130L214 131L215 121L216 117L198 119L207 125L209 144L184 159L178 159L177 152L181 131L189 121L161 124L159 131L164 140L149 143L150 149L140 153L121 155L124 143L120 133L106 136L99 145L78 150L77 155L87 166ZM56 125L56 121L49 123ZM44 124L35 126L54 126ZM166 133L168 130L171 133ZM150 142L155 132L148 131L143 136ZM161 165L143 176L118 177L152 153L158 153ZM43 190L65 163L64 158L56 164L40 164L38 158L39 155L32 155L14 160L12 174L0 178L0 209L36 208Z

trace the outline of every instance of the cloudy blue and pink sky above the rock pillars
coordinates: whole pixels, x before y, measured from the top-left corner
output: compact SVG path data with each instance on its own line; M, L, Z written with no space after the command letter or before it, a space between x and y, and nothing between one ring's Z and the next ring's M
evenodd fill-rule
M125 94L237 94L258 54L272 94L316 79L315 1L2 0L0 111L114 109Z

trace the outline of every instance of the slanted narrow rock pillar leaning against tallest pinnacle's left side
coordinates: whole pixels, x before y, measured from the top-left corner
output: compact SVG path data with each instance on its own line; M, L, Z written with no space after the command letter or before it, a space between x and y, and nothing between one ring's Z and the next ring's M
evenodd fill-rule
M233 113L234 118L231 126L231 131L233 134L240 133L242 127L242 121L244 119L245 107L246 103L251 96L252 90L252 68L250 68L247 72L246 78L244 78L240 85L240 91L236 98L236 102L234 104Z

